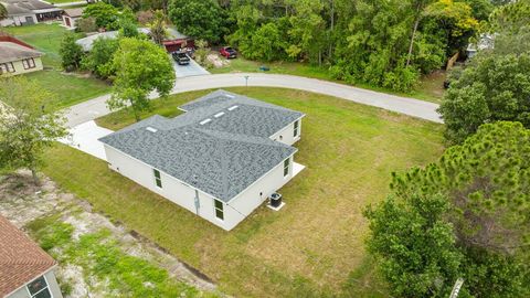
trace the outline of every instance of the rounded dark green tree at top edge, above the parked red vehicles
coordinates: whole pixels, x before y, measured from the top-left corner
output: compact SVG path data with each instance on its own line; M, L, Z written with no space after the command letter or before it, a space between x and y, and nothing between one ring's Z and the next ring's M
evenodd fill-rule
M169 19L182 33L209 42L223 34L223 11L215 0L172 0Z

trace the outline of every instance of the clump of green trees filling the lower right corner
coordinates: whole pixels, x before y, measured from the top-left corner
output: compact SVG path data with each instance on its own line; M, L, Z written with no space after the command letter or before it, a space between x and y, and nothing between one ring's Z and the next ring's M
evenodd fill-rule
M367 213L393 291L439 296L463 277L463 294L528 297L529 143L519 123L487 124L436 162L393 173L392 196Z

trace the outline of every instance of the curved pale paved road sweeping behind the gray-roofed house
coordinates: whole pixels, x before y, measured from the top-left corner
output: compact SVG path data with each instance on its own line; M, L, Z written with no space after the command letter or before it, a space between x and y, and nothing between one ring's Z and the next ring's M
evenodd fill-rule
M437 104L293 75L237 73L190 76L177 79L171 93L245 86L245 76L248 76L248 86L285 87L314 92L363 105L384 108L430 121L443 123L439 114L436 111L438 108ZM66 113L68 126L73 127L110 113L105 104L105 100L110 95L103 95L72 106ZM157 95L151 94L150 97L156 98Z

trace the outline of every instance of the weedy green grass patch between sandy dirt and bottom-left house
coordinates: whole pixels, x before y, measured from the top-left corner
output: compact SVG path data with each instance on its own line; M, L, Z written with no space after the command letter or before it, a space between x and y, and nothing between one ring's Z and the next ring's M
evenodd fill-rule
M72 238L74 227L64 222L36 220L31 223L33 234L42 248L61 249L56 255L62 264L81 266L91 279L105 280L107 287L130 297L197 297L201 292L183 283L174 281L167 270L152 263L127 255L108 230Z

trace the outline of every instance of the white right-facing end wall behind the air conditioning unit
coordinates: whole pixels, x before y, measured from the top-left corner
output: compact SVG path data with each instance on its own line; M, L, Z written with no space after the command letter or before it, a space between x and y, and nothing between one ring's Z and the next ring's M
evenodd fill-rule
M284 177L284 161L237 194L224 206L224 228L230 231L257 209L267 198L293 178L294 156L289 157L289 173Z

